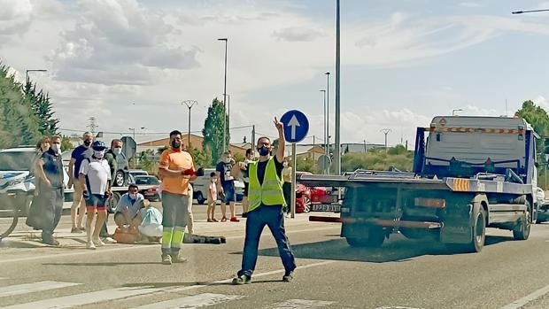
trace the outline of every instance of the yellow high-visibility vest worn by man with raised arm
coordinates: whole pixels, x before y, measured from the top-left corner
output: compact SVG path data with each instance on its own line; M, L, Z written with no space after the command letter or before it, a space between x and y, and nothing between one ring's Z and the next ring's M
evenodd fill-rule
M282 179L276 174L274 157L269 158L267 161L262 184L259 184L258 162L250 162L248 171L250 172L250 186L248 187L249 212L258 208L261 203L264 205L286 205L282 192Z

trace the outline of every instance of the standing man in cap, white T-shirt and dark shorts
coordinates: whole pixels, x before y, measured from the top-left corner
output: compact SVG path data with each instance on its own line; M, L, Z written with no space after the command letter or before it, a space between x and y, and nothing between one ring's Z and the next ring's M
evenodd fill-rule
M107 199L112 196L110 189L111 168L104 158L106 146L101 141L91 144L93 155L91 158L85 158L81 162L78 180L83 188L82 196L86 199L86 210L88 220L86 220L87 243L86 248L96 249L103 246L104 243L99 239L99 231L103 226L104 219L107 216ZM93 233L91 231L91 222L97 211L97 220Z

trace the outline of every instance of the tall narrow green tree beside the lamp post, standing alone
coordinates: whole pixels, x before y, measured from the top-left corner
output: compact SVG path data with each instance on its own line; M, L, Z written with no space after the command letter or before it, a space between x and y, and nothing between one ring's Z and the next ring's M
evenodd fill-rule
M223 149L223 115L226 115L225 106L216 97L208 108L208 115L204 120L204 129L202 130L204 136L202 148L212 151L213 165L220 160L223 151L225 151ZM228 127L226 137L225 144L228 146L230 141Z

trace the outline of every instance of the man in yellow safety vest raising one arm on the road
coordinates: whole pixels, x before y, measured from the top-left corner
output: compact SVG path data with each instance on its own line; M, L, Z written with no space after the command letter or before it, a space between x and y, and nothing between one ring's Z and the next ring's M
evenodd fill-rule
M259 237L267 225L278 245L278 251L284 265L283 282L291 282L296 269L296 260L290 249L290 243L284 230L284 215L282 206L286 204L282 194L282 162L284 160L284 127L274 118L274 126L278 130L278 149L271 157L273 148L271 140L259 137L257 150L259 160L248 163L239 162L238 167L248 169L250 186L248 189L248 215L246 220L246 237L244 239L244 255L242 269L233 279L233 284L251 282L251 274L258 260Z

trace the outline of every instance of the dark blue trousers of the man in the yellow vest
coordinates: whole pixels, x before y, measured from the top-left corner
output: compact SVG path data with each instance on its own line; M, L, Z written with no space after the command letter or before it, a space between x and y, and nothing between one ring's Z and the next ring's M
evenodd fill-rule
M244 255L242 257L242 269L238 272L239 276L245 274L251 278L258 261L259 237L266 225L274 236L286 273L296 269L296 259L291 252L290 243L284 229L282 207L280 205L260 205L253 211L248 212Z

